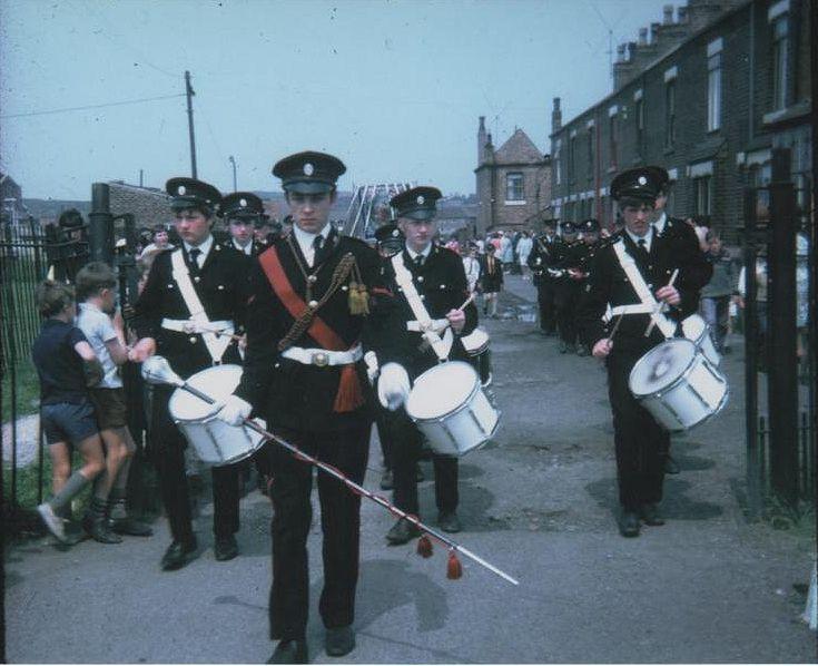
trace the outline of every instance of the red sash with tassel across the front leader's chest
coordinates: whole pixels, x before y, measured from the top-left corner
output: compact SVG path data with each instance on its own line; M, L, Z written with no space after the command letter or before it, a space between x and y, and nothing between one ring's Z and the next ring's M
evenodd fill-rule
M262 264L262 268L278 300L284 304L284 307L287 308L287 312L289 312L293 319L297 320L307 308L307 304L295 293L287 274L284 272L275 246L269 247L260 254L258 262ZM317 314L313 316L309 329L307 329L307 334L321 346L329 351L341 352L352 349L347 347L342 337ZM341 382L338 383L338 392L335 395L333 410L335 412L352 412L362 404L364 404L364 394L361 390L358 375L355 372L355 364L342 365Z

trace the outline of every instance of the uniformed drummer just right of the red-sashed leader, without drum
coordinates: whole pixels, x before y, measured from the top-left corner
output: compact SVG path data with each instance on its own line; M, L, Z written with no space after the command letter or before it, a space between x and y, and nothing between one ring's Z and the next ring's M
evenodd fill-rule
M414 187L392 198L397 225L405 236L403 251L393 261L408 273L418 294L420 303L427 316L438 329L440 345L430 345L423 336L420 317L410 305L406 288L401 285L394 265L386 264L387 285L395 294L390 333L377 341L382 371L378 379L378 396L390 411L388 431L392 435L392 463L394 476L394 503L398 509L417 515L417 481L415 462L423 445L417 428L408 418L404 402L411 382L424 371L444 359L466 359L460 341L477 324L474 304L463 307L469 298L463 262L454 252L433 243L437 232L435 215L441 192L435 187ZM442 350L438 353L438 349ZM445 391L444 388L441 389ZM457 517L457 459L449 456L432 456L435 476L435 502L437 525L447 532L461 530ZM406 519L400 519L386 535L391 545L405 543L418 536L417 528Z

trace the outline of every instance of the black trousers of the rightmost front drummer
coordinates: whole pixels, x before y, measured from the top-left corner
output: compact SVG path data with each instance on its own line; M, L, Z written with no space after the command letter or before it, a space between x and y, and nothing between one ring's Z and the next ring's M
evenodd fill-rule
M628 378L643 351L614 347L607 361L619 501L628 511L638 510L642 503L661 501L664 459L670 447L670 434L628 388Z

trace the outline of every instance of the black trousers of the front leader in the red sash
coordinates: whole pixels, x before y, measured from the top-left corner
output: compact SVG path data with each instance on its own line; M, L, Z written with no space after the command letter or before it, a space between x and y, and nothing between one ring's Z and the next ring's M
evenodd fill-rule
M372 423L326 433L287 429L274 432L305 453L326 462L356 483L363 483ZM274 640L304 638L309 609L307 536L313 520L311 494L315 468L274 443L265 448L273 473L273 586L269 592L269 630ZM318 611L327 628L345 627L355 619L358 580L361 498L343 482L317 471L321 529L324 536L324 589Z

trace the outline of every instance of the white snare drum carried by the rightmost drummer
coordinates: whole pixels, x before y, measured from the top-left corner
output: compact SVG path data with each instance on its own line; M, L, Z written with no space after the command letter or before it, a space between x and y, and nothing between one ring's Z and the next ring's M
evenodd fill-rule
M727 379L689 340L674 337L650 350L631 370L633 396L670 432L690 430L727 404Z

